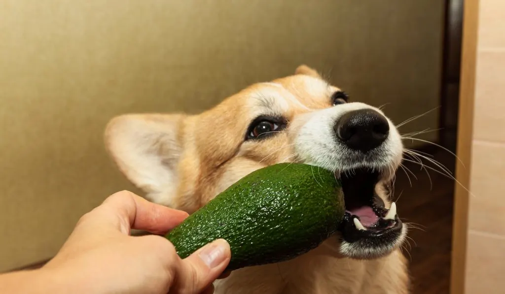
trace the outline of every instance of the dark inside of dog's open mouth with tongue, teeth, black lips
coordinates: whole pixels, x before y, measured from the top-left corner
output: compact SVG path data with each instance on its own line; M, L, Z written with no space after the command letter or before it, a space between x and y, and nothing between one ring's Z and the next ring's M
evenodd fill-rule
M368 239L376 246L388 242L401 231L402 223L393 202L389 209L377 196L375 186L380 172L358 169L340 174L345 201L345 216L340 231L348 243Z

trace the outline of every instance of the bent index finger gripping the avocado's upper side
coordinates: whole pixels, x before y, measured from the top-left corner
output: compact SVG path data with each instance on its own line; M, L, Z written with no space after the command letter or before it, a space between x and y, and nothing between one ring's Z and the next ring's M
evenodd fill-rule
M127 234L130 228L166 233L188 216L184 211L149 202L129 191L109 196L101 208L102 217Z

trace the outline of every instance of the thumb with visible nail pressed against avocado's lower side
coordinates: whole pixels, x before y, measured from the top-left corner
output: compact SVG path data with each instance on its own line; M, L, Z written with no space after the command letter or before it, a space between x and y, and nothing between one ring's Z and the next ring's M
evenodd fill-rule
M223 239L198 249L182 260L175 293L196 294L208 288L230 262L230 245Z

